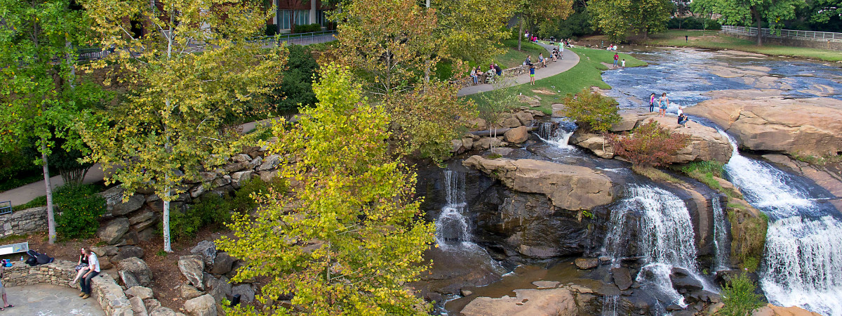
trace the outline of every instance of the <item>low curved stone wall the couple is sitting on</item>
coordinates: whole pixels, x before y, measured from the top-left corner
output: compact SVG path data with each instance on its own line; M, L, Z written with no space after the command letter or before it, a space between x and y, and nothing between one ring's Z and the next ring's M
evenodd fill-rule
M46 265L29 266L24 262L14 262L11 267L3 268L3 285L19 287L35 284L48 284L69 287L69 282L76 277L75 263L56 260ZM108 275L101 273L93 277L91 295L103 308L107 316L133 316L129 299L123 289Z

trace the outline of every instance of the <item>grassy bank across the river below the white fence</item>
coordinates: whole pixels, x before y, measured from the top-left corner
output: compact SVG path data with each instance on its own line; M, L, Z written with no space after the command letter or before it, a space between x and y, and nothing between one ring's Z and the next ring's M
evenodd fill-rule
M685 41L685 35L688 40ZM839 51L818 48L764 45L757 46L754 40L721 35L717 31L670 29L664 33L650 35L649 40L636 40L635 43L653 46L696 47L717 50L748 51L768 56L788 56L818 59L825 62L842 61Z

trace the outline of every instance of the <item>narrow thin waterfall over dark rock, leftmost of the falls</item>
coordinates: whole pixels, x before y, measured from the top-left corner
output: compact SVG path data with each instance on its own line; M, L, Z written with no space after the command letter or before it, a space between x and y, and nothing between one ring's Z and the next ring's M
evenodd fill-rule
M465 174L445 170L445 206L435 221L435 238L441 249L471 242L466 211Z

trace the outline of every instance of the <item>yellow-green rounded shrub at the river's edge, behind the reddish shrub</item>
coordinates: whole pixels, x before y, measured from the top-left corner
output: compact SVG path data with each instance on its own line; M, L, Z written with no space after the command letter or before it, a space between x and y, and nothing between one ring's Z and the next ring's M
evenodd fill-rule
M611 125L620 121L616 101L588 88L568 95L563 103L564 115L587 131L608 131Z

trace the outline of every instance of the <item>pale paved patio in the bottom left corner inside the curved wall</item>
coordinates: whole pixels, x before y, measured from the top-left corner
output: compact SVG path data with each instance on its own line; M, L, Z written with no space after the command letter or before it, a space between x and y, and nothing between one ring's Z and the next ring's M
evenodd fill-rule
M6 287L8 303L0 315L37 316L104 316L102 308L93 297L78 297L79 290L70 287L35 285ZM0 304L2 305L2 304Z

